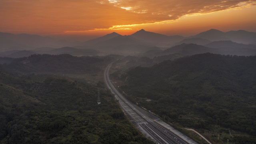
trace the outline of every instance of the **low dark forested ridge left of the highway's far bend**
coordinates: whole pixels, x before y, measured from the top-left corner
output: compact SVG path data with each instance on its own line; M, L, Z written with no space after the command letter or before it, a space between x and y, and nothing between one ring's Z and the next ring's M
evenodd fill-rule
M0 61L4 61L2 58ZM6 61L6 60L5 60ZM2 68L7 72L48 72L48 73L95 73L100 71L99 63L104 58L76 57L69 54L49 55L34 54L29 57L8 59Z

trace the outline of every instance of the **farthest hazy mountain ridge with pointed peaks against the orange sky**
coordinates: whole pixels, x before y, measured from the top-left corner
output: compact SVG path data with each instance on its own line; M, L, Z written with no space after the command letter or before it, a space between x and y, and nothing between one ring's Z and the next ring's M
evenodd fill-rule
M132 52L135 52L134 50L140 49L139 45L142 47L157 46L163 47L164 49L182 43L205 45L207 42L210 43L221 40L231 40L232 42L243 44L255 44L256 32L247 32L245 30L222 32L220 30L210 29L205 32L200 32L194 36L183 37L179 35L166 36L164 34L148 32L141 29L128 36L122 36L116 32L112 32L86 42L68 42L66 40L54 40L48 36L42 37L39 35L11 34L3 32L0 32L0 38L0 51L2 52L8 50L33 50L40 47L60 48L66 46L104 50L105 52L110 50L113 52L113 50L119 50L120 48L118 47L124 46L121 48L121 51L123 51L122 53L125 54L125 52L128 52L129 50L133 50L130 52L130 54L132 54ZM108 45L110 47L106 47L104 45ZM131 49L127 45L136 45L136 49Z

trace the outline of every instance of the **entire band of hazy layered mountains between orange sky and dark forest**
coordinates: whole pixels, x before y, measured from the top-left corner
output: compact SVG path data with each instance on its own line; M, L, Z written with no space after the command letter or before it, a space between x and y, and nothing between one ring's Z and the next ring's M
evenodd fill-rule
M68 42L38 35L0 32L0 51L2 51L0 56L13 58L31 54L65 53L88 56L99 54L99 52L126 55L146 52L145 56L162 56L174 53L191 55L212 52L247 56L256 54L255 44L256 32L244 30L222 32L211 29L194 36L183 37L178 35L166 36L142 29L129 36L122 36L113 32L86 42Z

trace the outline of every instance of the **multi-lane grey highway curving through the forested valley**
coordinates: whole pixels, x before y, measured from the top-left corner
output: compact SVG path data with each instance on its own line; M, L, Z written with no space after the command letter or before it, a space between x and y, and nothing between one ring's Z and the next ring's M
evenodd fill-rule
M153 114L128 101L110 81L109 69L113 63L109 64L104 72L106 85L114 94L128 118L143 134L150 136L159 144L197 144Z

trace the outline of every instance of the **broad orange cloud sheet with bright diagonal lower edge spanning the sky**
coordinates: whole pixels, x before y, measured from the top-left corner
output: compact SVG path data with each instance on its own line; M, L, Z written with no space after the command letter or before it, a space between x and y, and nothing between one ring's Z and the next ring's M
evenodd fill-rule
M1 0L0 30L117 29L249 5L256 0Z

